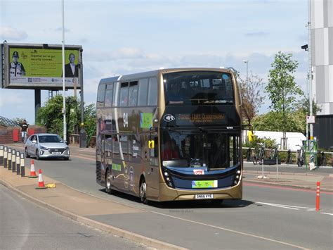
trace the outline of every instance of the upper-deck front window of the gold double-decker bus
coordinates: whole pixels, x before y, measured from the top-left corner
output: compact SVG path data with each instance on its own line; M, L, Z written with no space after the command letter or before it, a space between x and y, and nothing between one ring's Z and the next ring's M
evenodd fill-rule
M233 104L233 81L229 73L185 71L166 73L164 91L167 105Z

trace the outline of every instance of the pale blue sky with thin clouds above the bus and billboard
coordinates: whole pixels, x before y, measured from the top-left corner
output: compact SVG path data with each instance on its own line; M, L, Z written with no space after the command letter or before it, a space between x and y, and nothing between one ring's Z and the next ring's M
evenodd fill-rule
M1 43L61 44L61 0L0 3ZM65 44L83 46L88 104L100 78L161 67L231 66L245 78L247 59L266 82L278 51L299 61L294 76L306 91L307 7L306 0L65 0ZM41 96L43 105L48 92ZM0 115L33 124L34 91L0 89Z

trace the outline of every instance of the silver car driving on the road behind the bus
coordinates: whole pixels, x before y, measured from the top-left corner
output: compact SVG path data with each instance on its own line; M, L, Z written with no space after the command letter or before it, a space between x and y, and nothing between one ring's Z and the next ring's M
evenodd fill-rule
M25 142L25 157L70 159L70 147L56 134L34 134Z

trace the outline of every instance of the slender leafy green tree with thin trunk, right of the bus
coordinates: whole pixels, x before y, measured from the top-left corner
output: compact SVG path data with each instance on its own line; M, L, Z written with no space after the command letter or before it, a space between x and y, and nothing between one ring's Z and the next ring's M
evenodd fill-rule
M283 54L279 51L271 65L272 69L269 70L268 85L265 88L271 101L270 108L282 115L281 129L284 138L291 123L290 115L295 109L296 97L303 94L292 75L298 64L292 60L292 54ZM283 146L286 148L286 144Z

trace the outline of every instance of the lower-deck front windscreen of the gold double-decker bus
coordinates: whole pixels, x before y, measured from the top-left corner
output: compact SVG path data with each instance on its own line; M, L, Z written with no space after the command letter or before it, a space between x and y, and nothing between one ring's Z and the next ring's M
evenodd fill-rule
M163 130L161 160L164 166L209 169L240 163L240 137L230 132Z

